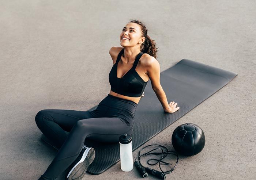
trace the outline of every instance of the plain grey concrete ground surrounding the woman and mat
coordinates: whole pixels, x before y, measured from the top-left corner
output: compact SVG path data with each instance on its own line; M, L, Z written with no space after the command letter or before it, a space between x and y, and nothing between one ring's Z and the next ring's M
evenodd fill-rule
M167 179L256 179L255 9L253 0L0 1L0 179L33 180L45 172L57 152L40 140L35 115L86 111L109 93L108 51L120 46L130 19L142 20L157 42L161 71L186 58L238 73L145 144L172 149L178 125L203 129L203 151L180 157ZM122 172L119 162L84 179L140 176L135 168Z

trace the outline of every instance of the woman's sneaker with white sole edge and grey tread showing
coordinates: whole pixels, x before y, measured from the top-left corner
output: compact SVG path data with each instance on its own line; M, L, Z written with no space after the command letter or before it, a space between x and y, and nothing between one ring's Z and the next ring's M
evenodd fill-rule
M72 169L69 171L66 180L82 180L87 171L88 166L93 162L94 157L94 149L88 148L84 145L79 156L71 164Z

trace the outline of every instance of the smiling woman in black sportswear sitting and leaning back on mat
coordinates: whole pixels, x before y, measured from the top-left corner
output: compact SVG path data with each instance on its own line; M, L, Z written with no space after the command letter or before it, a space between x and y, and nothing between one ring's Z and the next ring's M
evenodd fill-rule
M123 28L120 42L122 47L109 50L114 64L109 73L111 90L96 110L41 110L35 116L38 128L59 148L39 179L55 179L69 167L67 179L81 180L95 156L94 149L84 145L86 138L118 142L120 135L132 134L136 107L149 79L163 110L173 113L179 109L177 103L168 103L161 87L157 48L146 26L131 20Z

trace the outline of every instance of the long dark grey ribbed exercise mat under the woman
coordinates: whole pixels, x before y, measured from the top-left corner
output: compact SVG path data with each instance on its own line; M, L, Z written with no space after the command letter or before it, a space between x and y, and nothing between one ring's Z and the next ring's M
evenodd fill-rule
M140 99L135 112L132 150L138 149L187 114L229 83L235 76L237 76L236 73L186 59L161 72L160 82L168 103L175 101L180 107L174 113L163 111L163 107L151 87L151 81L148 81L144 96ZM96 108L97 106L89 111ZM86 139L85 144L95 149L95 159L87 170L90 174L101 174L120 161L119 143L100 143Z

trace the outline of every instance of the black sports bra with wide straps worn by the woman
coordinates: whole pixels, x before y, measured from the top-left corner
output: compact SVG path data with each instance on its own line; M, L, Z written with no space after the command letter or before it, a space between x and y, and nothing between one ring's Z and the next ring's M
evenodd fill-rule
M116 92L120 95L131 96L131 97L140 97L147 85L139 74L136 72L135 68L139 62L140 57L142 56L142 52L140 52L134 63L132 68L124 74L122 78L117 77L117 64L121 59L121 55L124 53L124 49L120 51L118 54L116 63L112 66L112 69L109 73L109 83L111 85L111 91Z

